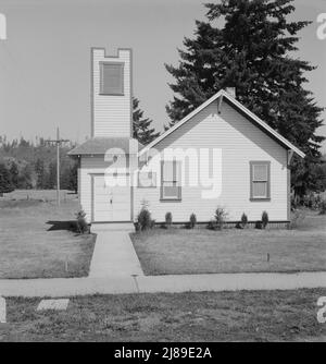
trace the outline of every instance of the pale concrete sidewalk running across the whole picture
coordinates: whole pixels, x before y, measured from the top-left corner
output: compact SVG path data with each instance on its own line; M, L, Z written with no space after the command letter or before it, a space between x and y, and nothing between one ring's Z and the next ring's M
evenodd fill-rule
M96 293L220 292L235 290L292 290L299 288L326 288L326 272L0 280L0 295L39 298L66 298Z

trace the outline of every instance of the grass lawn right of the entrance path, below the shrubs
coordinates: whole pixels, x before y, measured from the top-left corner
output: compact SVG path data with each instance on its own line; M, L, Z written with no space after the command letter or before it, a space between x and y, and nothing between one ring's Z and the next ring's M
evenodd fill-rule
M146 275L326 269L326 216L312 213L296 230L153 229L131 240Z

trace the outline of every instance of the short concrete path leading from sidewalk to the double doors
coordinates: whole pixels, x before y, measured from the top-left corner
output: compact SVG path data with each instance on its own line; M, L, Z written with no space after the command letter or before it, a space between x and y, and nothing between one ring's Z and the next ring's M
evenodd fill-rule
M143 276L129 232L131 225L96 225L97 242L89 278Z

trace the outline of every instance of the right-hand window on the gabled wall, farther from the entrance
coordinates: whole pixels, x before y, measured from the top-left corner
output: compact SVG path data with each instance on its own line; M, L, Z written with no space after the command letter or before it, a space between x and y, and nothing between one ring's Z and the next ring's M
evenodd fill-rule
M250 198L252 201L271 198L271 162L250 162Z

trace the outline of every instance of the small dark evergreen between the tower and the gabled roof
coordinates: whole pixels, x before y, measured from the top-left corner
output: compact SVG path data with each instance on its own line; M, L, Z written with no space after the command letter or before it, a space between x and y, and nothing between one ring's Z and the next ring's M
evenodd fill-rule
M155 133L153 128L150 128L152 120L143 118L143 111L139 108L139 100L133 98L133 134L134 137L141 143L147 145L151 143L160 133Z

